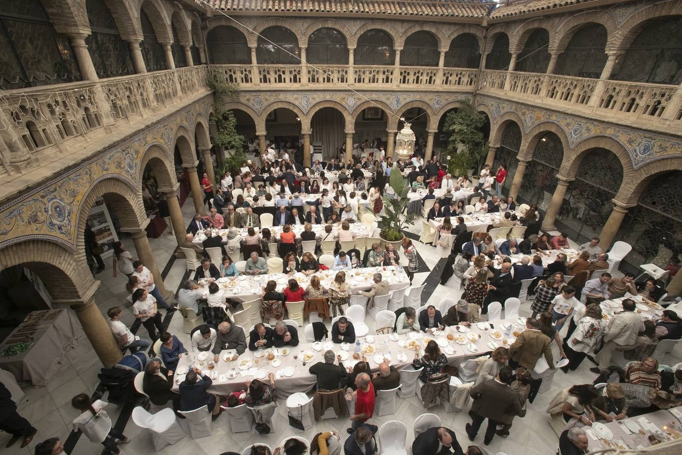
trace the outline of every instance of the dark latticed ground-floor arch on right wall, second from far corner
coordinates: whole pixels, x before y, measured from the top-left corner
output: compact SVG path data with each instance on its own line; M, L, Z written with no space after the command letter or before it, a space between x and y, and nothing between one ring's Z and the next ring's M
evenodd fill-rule
M546 132L535 145L533 159L528 163L518 192L519 199L537 204L539 209L546 211L557 189L557 173L562 160L561 139L552 132Z

